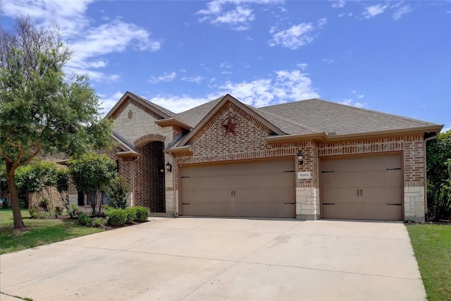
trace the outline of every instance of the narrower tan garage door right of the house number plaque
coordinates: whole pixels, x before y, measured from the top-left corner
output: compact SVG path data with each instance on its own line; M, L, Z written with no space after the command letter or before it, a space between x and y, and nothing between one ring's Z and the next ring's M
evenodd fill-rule
M321 159L324 219L402 219L400 154Z

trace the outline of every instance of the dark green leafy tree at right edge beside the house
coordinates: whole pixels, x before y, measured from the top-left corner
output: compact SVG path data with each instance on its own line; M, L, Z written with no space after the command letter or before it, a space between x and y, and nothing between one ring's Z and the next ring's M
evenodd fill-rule
M428 212L431 219L451 218L451 130L428 142Z

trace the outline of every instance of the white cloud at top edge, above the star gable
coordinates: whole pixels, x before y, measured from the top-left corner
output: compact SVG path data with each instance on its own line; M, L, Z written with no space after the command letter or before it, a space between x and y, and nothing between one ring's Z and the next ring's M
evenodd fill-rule
M197 11L202 16L199 22L226 24L233 30L247 30L249 23L255 20L254 11L248 4L274 4L282 0L213 0L206 4L206 9Z

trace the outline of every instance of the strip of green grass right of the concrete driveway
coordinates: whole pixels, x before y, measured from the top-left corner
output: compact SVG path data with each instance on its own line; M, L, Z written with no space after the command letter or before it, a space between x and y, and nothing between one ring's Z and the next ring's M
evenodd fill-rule
M407 225L428 300L451 300L451 226Z

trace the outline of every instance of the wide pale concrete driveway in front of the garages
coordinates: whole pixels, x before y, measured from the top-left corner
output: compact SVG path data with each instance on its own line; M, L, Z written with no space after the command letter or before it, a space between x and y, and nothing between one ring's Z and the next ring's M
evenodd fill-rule
M0 261L2 301L426 299L402 223L152 218Z

